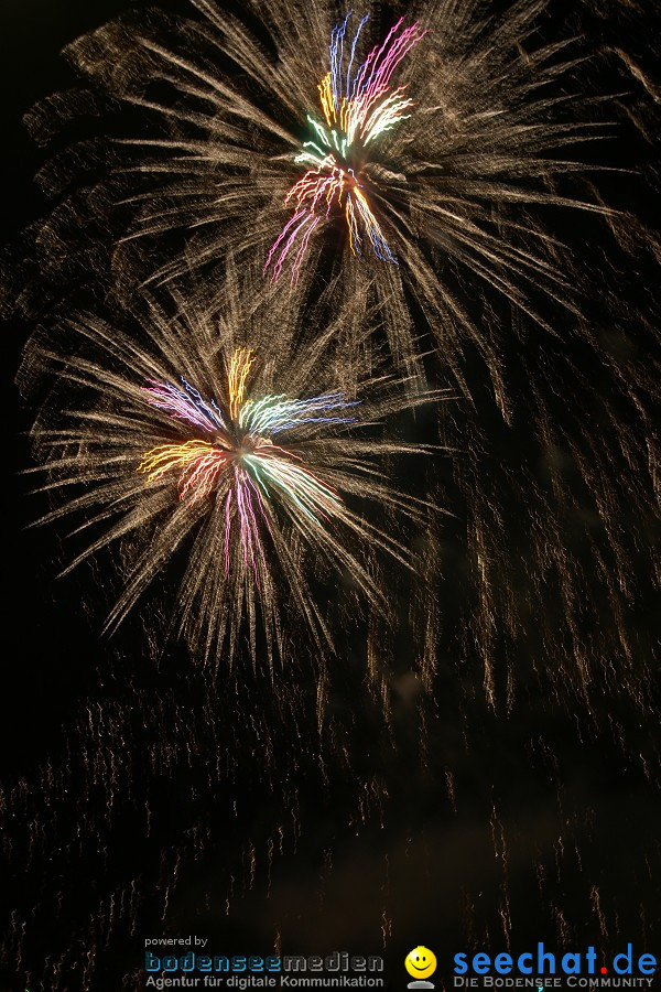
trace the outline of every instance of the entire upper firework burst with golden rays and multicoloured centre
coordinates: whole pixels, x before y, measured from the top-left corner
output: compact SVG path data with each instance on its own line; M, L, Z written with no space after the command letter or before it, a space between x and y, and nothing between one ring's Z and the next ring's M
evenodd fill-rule
M586 218L581 252L604 237L603 201L574 179L606 130L579 43L540 39L545 0L492 14L481 0L420 0L405 20L373 2L339 20L322 0L248 3L242 19L191 3L194 20L150 9L68 48L97 117L99 103L119 108L112 131L127 138L107 142L110 171L86 131L45 172L69 191L37 239L46 278L64 278L55 291L90 272L124 289L197 271L206 302L240 252L275 293L334 284L340 305L373 291L407 368L418 301L455 380L469 391L477 351L507 410L512 310L517 326L546 327L574 312L566 211ZM31 122L44 137L82 105L58 97ZM77 186L82 162L93 180Z

